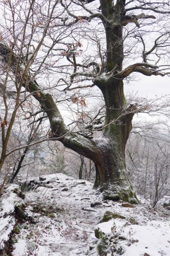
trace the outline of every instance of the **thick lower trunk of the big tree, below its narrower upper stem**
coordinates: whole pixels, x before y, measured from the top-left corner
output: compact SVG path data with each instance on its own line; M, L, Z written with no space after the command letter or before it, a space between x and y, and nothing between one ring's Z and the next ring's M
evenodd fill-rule
M104 191L105 199L137 203L125 164L125 146L128 141L133 113L126 109L124 85L121 80L95 81L106 104L103 137L95 139L98 155L95 161L95 187Z

